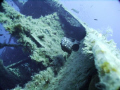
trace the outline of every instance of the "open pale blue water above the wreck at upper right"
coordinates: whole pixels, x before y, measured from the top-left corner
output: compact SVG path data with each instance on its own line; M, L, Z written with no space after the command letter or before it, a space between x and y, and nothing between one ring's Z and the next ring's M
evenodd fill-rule
M113 39L120 49L120 1L119 0L61 0L61 3L71 13L85 22L88 27L105 33L107 28L113 30ZM72 9L79 11L74 12ZM97 19L97 20L94 20Z

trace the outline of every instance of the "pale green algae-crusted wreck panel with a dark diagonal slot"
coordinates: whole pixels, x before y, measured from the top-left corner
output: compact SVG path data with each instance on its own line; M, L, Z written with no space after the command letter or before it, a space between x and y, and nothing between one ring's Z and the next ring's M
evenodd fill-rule
M16 12L7 3L4 3L3 6L5 14L0 15L1 22L5 23L5 29L11 34L20 37L18 42L29 48L33 60L43 61L47 66L49 63L47 57L53 58L64 53L60 47L64 33L57 13L32 19L31 16L26 17Z

